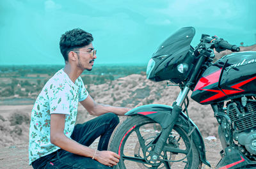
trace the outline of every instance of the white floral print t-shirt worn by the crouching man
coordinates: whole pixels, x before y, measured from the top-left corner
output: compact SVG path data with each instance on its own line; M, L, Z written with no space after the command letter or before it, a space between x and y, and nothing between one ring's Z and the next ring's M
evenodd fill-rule
M70 138L77 116L78 102L88 96L83 80L72 82L61 69L45 84L31 112L29 127L29 165L60 149L50 140L51 114L65 114L64 134Z

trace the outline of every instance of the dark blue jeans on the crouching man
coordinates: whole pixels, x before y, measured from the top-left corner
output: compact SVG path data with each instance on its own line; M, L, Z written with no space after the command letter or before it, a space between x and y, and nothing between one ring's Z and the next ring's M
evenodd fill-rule
M119 118L113 113L108 113L100 115L95 119L92 119L83 124L76 124L74 131L71 135L73 140L81 143L83 145L89 146L93 141L100 136L98 150L106 151L108 149L108 142L113 130L116 125L119 123ZM92 168L106 168L111 167L102 165L98 161L92 158L86 158L84 156L78 156L70 152L59 149L56 152L52 152L47 156L36 159L32 163L33 168L83 168L83 169L92 169Z

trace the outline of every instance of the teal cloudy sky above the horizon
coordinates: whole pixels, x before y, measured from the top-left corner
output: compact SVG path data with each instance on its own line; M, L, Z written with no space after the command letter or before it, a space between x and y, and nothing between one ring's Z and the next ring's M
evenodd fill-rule
M95 64L147 64L180 27L229 43L256 43L255 0L1 0L0 65L63 64L61 34L81 28L93 34Z

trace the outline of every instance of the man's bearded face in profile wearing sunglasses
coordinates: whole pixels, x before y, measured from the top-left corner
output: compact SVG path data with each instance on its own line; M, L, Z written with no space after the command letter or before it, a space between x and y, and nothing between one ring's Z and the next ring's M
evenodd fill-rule
M77 67L82 68L83 70L92 70L94 60L97 58L96 53L92 53L93 50L92 43L77 50Z

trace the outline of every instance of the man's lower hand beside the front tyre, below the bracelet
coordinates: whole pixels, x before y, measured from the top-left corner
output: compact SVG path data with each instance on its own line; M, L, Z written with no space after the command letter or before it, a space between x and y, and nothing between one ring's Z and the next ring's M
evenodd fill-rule
M114 166L119 162L120 156L112 151L97 151L95 159L103 165Z

